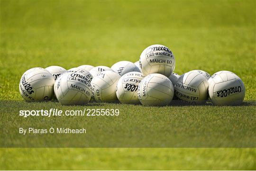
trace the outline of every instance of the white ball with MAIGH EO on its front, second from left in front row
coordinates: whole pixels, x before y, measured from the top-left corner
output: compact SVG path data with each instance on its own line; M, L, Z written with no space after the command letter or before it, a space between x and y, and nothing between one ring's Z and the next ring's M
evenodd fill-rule
M91 74L65 72L55 81L55 95L64 105L83 105L91 99Z

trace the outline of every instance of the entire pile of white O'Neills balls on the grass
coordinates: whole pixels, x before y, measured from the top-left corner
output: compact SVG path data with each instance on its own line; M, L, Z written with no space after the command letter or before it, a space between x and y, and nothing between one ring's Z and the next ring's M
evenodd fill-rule
M139 61L120 61L111 66L81 65L31 68L20 79L19 91L27 101L58 99L64 105L90 101L165 106L173 99L214 105L239 105L245 97L243 81L233 72L210 76L202 70L174 73L173 52L165 45L151 45Z

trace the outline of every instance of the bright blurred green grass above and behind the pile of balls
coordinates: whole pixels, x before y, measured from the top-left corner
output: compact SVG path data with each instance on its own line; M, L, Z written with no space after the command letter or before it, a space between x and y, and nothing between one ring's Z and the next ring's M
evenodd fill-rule
M255 99L255 19L255 1L2 0L1 99L21 99L31 67L135 62L152 44L174 52L179 74L237 73Z

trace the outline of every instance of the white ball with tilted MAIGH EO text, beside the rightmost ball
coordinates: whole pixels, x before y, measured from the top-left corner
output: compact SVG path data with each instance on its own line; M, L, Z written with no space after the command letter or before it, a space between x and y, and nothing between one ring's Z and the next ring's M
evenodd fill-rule
M176 82L175 95L188 104L203 104L208 99L208 81L199 72L186 72Z

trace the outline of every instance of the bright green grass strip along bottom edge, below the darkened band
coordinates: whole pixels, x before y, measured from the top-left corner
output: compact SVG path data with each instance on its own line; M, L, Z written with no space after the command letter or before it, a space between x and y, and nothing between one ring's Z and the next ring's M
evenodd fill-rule
M255 154L248 148L9 148L1 169L255 170Z

